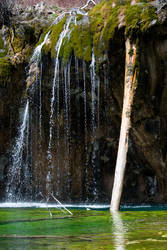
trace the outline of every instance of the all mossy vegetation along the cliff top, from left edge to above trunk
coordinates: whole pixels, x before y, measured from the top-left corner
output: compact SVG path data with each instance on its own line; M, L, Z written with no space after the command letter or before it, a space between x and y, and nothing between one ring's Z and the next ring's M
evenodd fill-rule
M44 11L44 6L41 8ZM24 54L18 63L28 61L37 39L41 37L36 46L43 42L48 31L50 31L50 37L42 51L44 54L50 53L52 58L55 57L55 46L68 15L57 24L52 25L51 16L56 15L57 17L60 14L59 10L55 9L54 6L52 15L42 12L47 21L44 23L44 20L41 19L41 24L38 25L37 22L34 22L35 19L29 19L30 16L32 17L32 13L30 15L26 12L27 20L22 20L20 23L17 23L15 18L16 21L8 32L8 47L10 47L9 55L12 57ZM36 12L36 10L34 11ZM56 14L55 11L57 11ZM47 13L52 13L51 9ZM103 0L89 11L88 16L78 14L76 19L76 23L70 24L69 35L62 43L60 56L64 63L71 54L79 59L90 61L92 49L100 63L118 30L122 30L125 37L136 38L138 35L148 32L152 26L158 25L156 9L150 5L149 1L137 1L132 5L130 0ZM4 48L3 40L0 37L0 56L6 55L7 48ZM12 63L15 64L16 61L14 59Z

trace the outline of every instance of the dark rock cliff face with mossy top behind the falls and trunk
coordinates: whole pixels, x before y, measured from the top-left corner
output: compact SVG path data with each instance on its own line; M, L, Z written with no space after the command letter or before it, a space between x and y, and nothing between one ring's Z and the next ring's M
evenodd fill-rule
M28 97L30 137L28 146L24 145L23 158L31 174L27 189L24 168L20 172L23 183L17 189L21 190L21 197L40 200L40 193L47 195L50 171L52 191L61 200L109 201L121 122L128 36L137 44L138 74L122 202L166 202L166 7L157 14L148 3L132 6L103 1L87 16L78 14L77 25L71 24L70 36L60 50L60 89L55 91L55 114L49 122L55 46L67 21L64 17L53 24L58 15L62 15L62 10L46 6L40 11L35 7L20 10L18 16L13 16L11 26L3 26L0 31L1 200L5 199L12 145ZM48 31L41 64L29 64L34 49L44 41ZM96 79L92 76L93 53ZM26 79L29 79L28 86ZM51 123L52 167L48 170Z

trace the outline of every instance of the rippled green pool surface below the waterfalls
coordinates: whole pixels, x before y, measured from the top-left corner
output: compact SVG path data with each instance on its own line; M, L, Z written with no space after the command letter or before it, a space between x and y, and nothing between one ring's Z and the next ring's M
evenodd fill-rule
M165 210L122 211L111 215L108 210L88 209L90 206L70 209L71 216L54 207L1 207L0 248L167 249ZM143 210L148 210L148 206Z

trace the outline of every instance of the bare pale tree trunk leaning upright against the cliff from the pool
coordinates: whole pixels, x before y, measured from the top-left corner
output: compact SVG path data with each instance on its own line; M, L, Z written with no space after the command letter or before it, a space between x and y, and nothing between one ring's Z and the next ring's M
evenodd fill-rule
M131 110L133 104L136 74L136 45L126 40L126 62L125 62L125 86L122 111L121 131L119 147L115 169L114 185L110 211L118 211L120 206L121 194L123 189L124 173L128 152L129 129L131 127Z

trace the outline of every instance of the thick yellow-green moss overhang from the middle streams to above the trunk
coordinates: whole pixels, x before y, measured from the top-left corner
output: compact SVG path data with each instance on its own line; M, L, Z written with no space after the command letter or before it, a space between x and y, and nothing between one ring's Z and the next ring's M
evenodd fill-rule
M121 20L120 15L123 17ZM91 9L88 17L89 21L85 23L82 22L84 19L82 15L78 15L78 24L71 24L71 34L63 41L60 51L64 63L72 53L79 59L90 61L92 48L97 59L102 57L120 27L125 31L125 37L131 38L147 33L153 25L158 25L156 9L149 1L138 1L135 5L131 5L130 1L105 0ZM55 57L55 46L66 18L49 27L38 43L39 45L43 41L50 30L50 43L43 46L43 53L51 53L52 58Z

